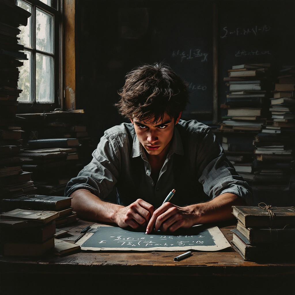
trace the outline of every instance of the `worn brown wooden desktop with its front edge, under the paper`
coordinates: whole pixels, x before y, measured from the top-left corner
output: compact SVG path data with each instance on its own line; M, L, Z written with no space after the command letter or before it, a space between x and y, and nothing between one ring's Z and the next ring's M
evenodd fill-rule
M93 222L78 220L61 238L74 243L81 230ZM219 225L228 241L235 225ZM232 248L222 252L193 252L189 258L173 261L179 252L101 252L76 253L65 257L49 253L42 258L0 256L0 273L91 273L91 274L150 274L189 276L292 276L295 263L255 263L244 261Z

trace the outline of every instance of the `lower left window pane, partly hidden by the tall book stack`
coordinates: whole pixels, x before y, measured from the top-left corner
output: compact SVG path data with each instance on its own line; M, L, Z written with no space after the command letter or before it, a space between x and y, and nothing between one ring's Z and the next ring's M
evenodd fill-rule
M28 60L24 60L24 65L19 67L19 82L18 88L22 89L22 93L19 95L18 101L21 102L33 102L32 100L32 66L31 66L31 52L24 51Z

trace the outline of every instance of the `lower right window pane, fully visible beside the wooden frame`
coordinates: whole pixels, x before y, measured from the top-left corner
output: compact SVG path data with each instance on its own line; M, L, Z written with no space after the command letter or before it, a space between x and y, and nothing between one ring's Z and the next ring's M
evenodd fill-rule
M36 53L36 102L54 102L54 60Z

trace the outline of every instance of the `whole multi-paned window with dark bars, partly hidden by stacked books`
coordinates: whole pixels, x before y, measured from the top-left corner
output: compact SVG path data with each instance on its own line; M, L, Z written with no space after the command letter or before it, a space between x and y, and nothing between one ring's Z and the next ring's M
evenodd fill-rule
M21 103L58 101L59 89L59 23L56 0L17 0L17 5L31 12L27 26L21 26L19 43L24 45L27 60L19 68Z

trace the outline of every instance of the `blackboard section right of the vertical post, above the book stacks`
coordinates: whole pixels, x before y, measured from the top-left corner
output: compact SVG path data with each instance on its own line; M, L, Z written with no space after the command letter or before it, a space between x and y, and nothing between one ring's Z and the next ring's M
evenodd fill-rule
M295 1L223 0L218 4L218 99L232 65L270 63L271 72L295 64ZM220 119L220 112L219 112Z

